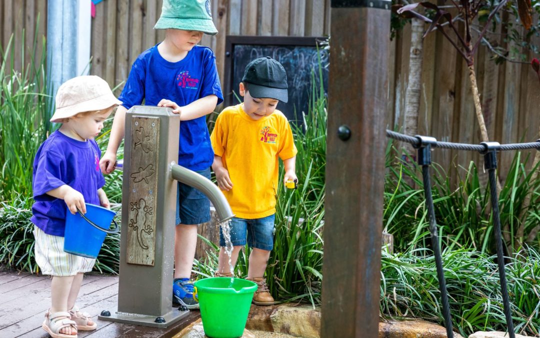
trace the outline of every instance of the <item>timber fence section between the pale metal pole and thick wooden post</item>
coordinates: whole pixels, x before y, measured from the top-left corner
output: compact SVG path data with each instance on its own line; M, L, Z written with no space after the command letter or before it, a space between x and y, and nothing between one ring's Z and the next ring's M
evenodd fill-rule
M12 2L12 1L11 1ZM163 41L153 30L162 0L105 0L92 19L91 74L116 86L125 81L141 51ZM328 35L330 0L211 0L217 36L205 35L201 44L216 55L224 78L226 35Z

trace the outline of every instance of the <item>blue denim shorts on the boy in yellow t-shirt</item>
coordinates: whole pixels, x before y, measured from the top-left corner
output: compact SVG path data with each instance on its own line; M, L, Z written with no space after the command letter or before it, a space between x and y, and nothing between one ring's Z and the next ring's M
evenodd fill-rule
M246 220L234 217L231 220L231 242L233 246L245 246L261 250L272 250L274 247L275 214L263 218ZM223 231L219 228L219 245L225 247Z

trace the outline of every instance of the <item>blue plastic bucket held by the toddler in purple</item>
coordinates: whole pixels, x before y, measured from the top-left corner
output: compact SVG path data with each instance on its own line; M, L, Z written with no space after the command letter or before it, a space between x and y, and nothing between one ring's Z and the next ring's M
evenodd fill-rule
M64 251L77 256L97 258L106 234L118 233L118 224L112 219L114 211L86 203L86 214L79 210L73 215L66 211ZM109 230L111 221L114 228Z

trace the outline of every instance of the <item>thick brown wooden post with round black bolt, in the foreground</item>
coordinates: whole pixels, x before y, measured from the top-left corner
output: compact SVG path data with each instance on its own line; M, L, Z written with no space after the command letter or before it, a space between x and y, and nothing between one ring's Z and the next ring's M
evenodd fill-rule
M390 1L332 0L322 337L379 336Z

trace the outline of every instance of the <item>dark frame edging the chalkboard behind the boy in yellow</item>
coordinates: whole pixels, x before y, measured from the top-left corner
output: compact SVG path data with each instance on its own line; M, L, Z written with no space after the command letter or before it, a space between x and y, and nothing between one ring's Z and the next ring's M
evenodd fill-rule
M235 45L283 45L296 47L316 47L327 38L323 36L261 36L261 35L227 35L225 37L225 69L223 81L224 106L233 105L233 50Z

